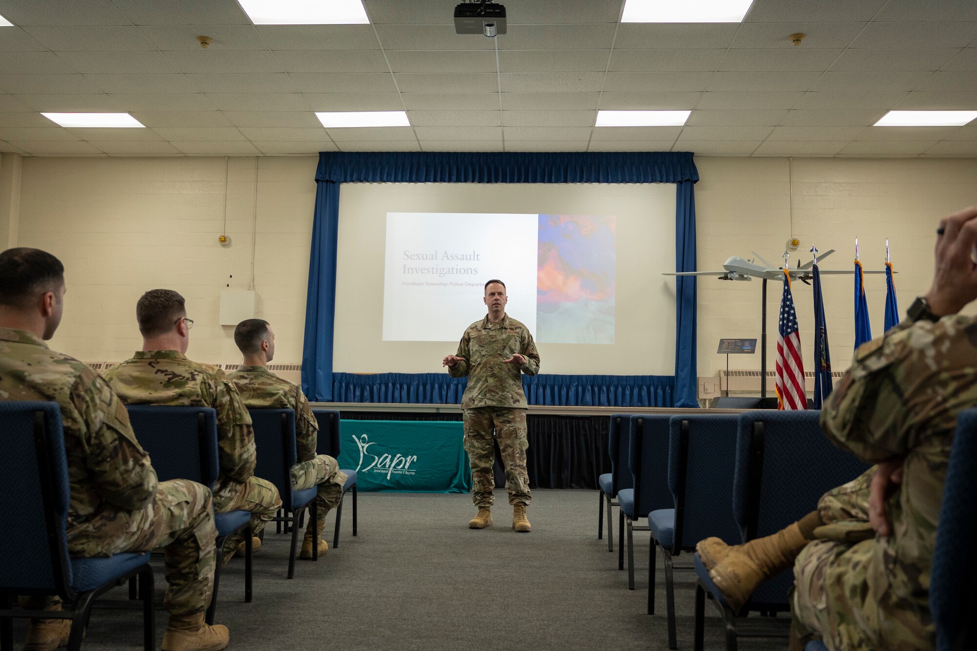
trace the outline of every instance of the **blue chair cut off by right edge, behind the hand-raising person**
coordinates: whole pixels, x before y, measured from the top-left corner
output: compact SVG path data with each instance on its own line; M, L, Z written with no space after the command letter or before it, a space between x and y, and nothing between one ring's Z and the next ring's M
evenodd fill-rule
M937 651L977 648L977 410L956 417L954 445L943 487L943 504L933 549L929 607L936 624Z

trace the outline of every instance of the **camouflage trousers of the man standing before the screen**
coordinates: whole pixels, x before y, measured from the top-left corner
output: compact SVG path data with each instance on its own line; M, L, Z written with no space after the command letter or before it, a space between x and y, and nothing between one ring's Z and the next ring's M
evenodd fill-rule
M530 442L526 437L526 410L502 407L479 407L465 410L465 452L472 466L472 501L476 506L491 506L495 500L495 449L492 429L502 454L505 478L508 481L509 503L530 505L530 475L526 470L526 451Z

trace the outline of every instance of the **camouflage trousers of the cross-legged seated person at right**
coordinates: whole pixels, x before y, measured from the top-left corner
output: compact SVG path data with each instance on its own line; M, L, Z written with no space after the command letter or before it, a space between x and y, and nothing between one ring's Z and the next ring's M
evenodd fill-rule
M872 466L857 479L828 491L818 501L826 524L869 521ZM923 617L912 604L886 599L888 584L873 585L872 569L882 563L874 537L860 542L815 540L794 562L791 596L793 629L806 641L822 637L831 651L930 649ZM899 571L898 565L895 571Z

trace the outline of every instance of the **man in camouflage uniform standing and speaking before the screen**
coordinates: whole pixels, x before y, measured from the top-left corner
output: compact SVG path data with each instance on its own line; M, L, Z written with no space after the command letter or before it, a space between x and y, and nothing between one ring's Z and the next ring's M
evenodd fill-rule
M530 505L530 476L526 471L526 395L522 373L539 372L539 353L526 325L505 314L508 297L505 283L488 281L485 286L488 315L468 326L461 335L456 355L448 355L442 366L451 377L468 376L461 398L465 418L465 450L472 466L473 500L478 514L468 526L484 529L491 525L492 466L495 451L492 429L505 465L509 503L513 506L512 527L530 531L526 507Z

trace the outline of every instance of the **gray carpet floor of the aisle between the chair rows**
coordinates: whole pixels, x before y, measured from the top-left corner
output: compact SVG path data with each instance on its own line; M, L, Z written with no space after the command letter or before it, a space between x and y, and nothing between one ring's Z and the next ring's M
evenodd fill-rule
M614 553L597 540L596 491L537 489L532 499L532 532L517 534L504 491L496 491L494 525L481 531L467 528L467 495L361 494L354 538L347 496L339 547L318 563L297 561L291 581L290 536L269 528L255 556L252 603L243 601L243 560L232 560L217 620L231 629L230 648L242 650L667 649L660 554L658 614L645 612L649 534L635 532L636 589L628 590L616 531ZM332 522L330 514L330 546ZM691 557L677 564L689 567ZM692 570L676 572L680 649L692 649L695 585ZM116 588L103 600L123 598ZM93 612L82 648L142 648L141 611L106 606ZM161 640L166 613L156 620ZM16 639L24 626L17 623ZM724 648L723 630L707 602L706 649ZM785 649L786 640L743 638L741 648Z

